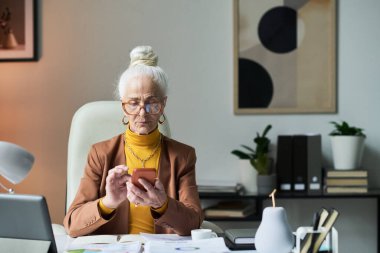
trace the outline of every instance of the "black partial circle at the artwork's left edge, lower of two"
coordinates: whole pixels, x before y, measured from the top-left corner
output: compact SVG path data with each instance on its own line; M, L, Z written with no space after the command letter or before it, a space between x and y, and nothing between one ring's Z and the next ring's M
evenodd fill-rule
M273 97L269 73L258 63L239 58L239 108L267 108Z

